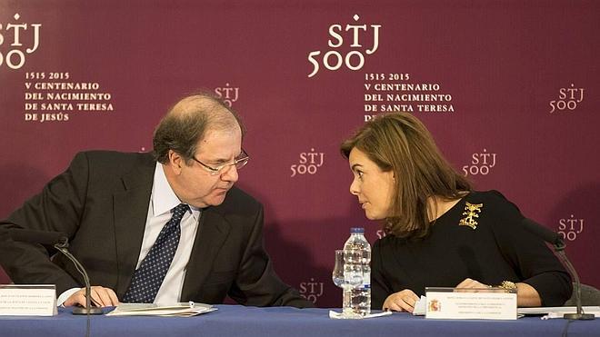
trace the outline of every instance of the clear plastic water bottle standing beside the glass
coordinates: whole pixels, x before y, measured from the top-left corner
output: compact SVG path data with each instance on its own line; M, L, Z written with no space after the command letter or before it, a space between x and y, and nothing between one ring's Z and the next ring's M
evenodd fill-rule
M364 228L350 229L344 244L344 292L346 316L371 313L371 245L366 241Z

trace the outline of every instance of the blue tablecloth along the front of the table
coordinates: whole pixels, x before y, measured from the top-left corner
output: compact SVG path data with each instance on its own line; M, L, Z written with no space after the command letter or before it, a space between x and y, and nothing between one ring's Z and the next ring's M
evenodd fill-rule
M367 320L333 320L327 309L217 305L194 317L92 316L92 337L115 336L600 336L600 319L569 322L525 317L516 321L425 320L405 312ZM85 336L86 317L61 309L55 317L0 316L0 336Z

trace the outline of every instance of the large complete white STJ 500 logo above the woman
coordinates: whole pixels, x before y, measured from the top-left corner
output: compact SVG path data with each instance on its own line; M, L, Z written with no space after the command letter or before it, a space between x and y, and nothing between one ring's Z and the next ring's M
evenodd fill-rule
M355 21L358 21L360 16L355 15L353 18ZM345 25L344 28L342 28L342 25L339 24L330 25L329 35L331 38L327 41L327 45L332 48L339 48L343 46L343 34L351 31L352 45L350 45L350 47L356 49L346 53L346 55L342 55L337 50L329 50L325 52L323 56L321 56L320 50L315 50L308 53L308 61L313 64L313 72L308 74L308 77L313 77L319 72L321 63L326 69L329 70L337 70L341 68L342 65L345 65L346 68L353 71L361 69L363 65L365 65L365 55L363 55L363 50L365 48L363 48L363 45L360 44L361 35L373 35L373 46L371 46L371 49L365 50L366 55L373 55L379 47L379 28L381 28L381 25L369 25L368 28L366 25Z

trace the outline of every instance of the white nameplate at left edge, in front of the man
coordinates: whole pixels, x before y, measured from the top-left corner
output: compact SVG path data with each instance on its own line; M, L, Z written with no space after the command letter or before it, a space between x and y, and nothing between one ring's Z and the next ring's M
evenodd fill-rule
M53 316L54 284L0 284L0 316Z

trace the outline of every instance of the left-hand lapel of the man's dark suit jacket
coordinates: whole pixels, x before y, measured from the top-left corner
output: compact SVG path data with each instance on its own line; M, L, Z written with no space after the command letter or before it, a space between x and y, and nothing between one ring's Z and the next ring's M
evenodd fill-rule
M113 196L117 259L116 294L123 296L142 249L145 221L152 193L155 162L123 177L125 191Z

